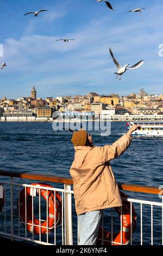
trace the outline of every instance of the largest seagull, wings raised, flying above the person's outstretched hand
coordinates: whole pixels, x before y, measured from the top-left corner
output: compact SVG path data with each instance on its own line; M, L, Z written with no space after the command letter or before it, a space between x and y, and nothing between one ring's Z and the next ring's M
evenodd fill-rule
M110 55L111 55L111 57L112 57L114 63L115 63L116 66L117 66L117 69L118 69L118 71L114 73L114 74L117 75L117 77L118 77L119 75L122 76L123 73L126 72L126 70L139 68L139 67L145 62L144 60L140 60L140 62L138 62L138 63L136 63L135 65L130 66L130 68L128 68L129 64L125 64L124 66L121 66L121 65L117 62L116 58L114 57L114 55L113 55L113 53L112 53L112 51L111 51L111 47L109 47L109 52L110 52ZM116 77L116 78L117 78L117 77ZM120 77L120 80L121 80L121 77Z

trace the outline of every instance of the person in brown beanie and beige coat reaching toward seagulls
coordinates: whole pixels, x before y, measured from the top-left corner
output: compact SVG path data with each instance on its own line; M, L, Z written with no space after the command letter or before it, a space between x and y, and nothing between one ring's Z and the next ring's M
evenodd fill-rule
M74 161L70 174L78 215L79 245L96 245L102 209L122 206L118 185L110 161L127 150L131 143L131 129L112 145L97 147L92 136L84 130L74 132Z

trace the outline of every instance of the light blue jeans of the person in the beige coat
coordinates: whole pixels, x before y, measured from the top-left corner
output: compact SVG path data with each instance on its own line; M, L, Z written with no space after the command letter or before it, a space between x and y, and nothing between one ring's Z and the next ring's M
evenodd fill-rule
M78 215L78 245L96 245L102 210L88 211Z

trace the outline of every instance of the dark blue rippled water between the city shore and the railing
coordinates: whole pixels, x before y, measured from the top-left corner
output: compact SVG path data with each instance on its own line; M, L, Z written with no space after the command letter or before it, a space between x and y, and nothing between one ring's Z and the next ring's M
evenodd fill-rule
M74 156L71 132L54 131L52 123L0 123L0 129L1 169L70 177L69 169ZM101 137L99 131L91 131L96 145L111 144L126 132L126 122L112 122L111 135L108 137ZM117 181L147 186L163 185L162 145L163 137L134 137L128 150L111 161ZM152 194L126 194L133 198L161 202L158 196ZM135 205L135 208L139 215L139 207ZM145 242L150 242L151 236L149 215L151 208L146 207L143 220ZM154 209L154 222L155 242L159 243L161 216L158 208ZM135 243L140 241L139 229L138 224Z

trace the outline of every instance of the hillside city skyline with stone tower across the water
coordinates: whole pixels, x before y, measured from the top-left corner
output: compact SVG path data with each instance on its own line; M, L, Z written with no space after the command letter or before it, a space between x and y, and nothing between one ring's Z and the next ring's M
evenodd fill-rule
M117 118L118 120L128 120L130 114L131 120L142 119L142 114L143 119L146 120L161 120L163 117L162 102L163 94L149 95L143 88L139 90L138 94L131 93L123 96L90 92L86 95L65 95L55 98L51 95L42 99L37 97L37 90L33 86L30 96L22 96L18 99L7 99L4 96L3 99L0 99L0 121L48 121L53 120L55 111L61 116L67 111L68 113L77 111L88 115L95 113L104 119L110 118L110 115L113 114L112 120L117 120Z

